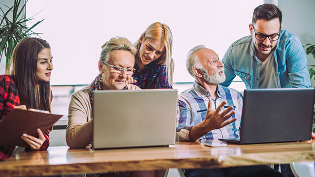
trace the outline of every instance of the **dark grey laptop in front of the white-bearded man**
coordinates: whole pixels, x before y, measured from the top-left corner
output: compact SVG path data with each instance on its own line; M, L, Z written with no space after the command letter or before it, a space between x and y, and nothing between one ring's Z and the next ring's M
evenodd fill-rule
M254 144L310 140L315 89L246 89L240 138L228 143Z

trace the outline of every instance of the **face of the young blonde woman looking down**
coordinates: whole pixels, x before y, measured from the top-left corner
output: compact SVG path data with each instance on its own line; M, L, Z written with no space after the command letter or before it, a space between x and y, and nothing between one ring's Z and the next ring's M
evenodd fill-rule
M140 43L141 46L137 54L138 59L136 61L139 67L144 67L150 62L158 59L165 50L164 44L158 39L144 39L144 37L142 37L140 39Z

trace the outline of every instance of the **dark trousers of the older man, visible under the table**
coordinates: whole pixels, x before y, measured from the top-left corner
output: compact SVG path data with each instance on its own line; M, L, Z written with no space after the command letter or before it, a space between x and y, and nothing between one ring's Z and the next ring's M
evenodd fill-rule
M283 177L267 165L185 170L185 177Z

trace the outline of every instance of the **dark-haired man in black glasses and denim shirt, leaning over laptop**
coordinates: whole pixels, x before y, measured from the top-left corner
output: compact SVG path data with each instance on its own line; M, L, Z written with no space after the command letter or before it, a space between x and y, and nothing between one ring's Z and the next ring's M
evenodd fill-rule
M274 4L254 9L252 35L235 41L222 62L228 87L239 76L247 89L309 88L307 58L299 38L282 30L282 12Z

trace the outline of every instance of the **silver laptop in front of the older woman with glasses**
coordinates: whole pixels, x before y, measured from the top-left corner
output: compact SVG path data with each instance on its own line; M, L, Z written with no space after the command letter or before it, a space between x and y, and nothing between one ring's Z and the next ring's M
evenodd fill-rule
M93 148L175 144L177 89L94 91Z

